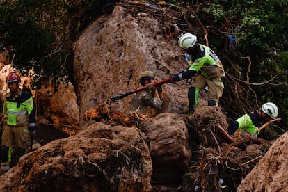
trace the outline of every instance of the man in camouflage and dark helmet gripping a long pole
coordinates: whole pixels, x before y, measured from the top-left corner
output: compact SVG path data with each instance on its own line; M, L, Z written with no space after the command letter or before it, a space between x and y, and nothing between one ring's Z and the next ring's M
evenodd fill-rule
M141 86L145 86L146 89L135 93L131 101L129 111L137 111L139 113L147 115L148 117L153 117L157 115L157 113L160 113L162 109L162 88L161 86L156 87L152 85L152 83L156 82L155 74L152 71L142 72L140 74L139 80Z

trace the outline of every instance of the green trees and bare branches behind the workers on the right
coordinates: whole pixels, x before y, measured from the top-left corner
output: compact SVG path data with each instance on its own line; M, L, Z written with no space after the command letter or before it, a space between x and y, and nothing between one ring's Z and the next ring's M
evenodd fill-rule
M228 54L222 56L225 58L223 61L230 63L230 65L224 63L226 72L232 77L241 79L237 87L243 93L242 95L235 93L235 97L245 107L275 102L280 108L280 118L284 119L287 125L288 113L285 109L288 107L288 1L214 1L216 2L221 5L223 11L209 10L207 13L211 15L224 13L224 16L218 17L216 21L226 24L223 18L228 18L230 28L227 32L236 36L237 44L232 56L228 57ZM245 83L248 77L249 82ZM233 83L226 83L226 87L234 87ZM245 104L244 99L247 99L249 104ZM243 109L243 112L249 109Z

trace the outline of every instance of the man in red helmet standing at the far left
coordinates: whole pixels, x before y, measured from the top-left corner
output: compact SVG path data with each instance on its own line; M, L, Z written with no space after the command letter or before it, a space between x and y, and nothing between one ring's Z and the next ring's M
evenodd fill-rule
M11 72L8 77L8 93L3 105L3 132L1 143L1 174L10 169L13 144L17 157L26 154L29 148L29 134L35 136L35 109L29 93L19 88L20 77Z

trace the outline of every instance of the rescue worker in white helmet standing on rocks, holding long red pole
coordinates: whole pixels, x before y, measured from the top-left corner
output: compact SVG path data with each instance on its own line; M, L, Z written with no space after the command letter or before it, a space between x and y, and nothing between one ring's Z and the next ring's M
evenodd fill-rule
M191 65L187 70L169 78L172 83L175 83L194 77L188 91L189 115L195 111L200 90L208 86L208 105L214 106L218 105L224 88L225 72L220 59L209 47L198 44L196 41L197 37L191 33L184 33L179 37L178 45L190 55Z

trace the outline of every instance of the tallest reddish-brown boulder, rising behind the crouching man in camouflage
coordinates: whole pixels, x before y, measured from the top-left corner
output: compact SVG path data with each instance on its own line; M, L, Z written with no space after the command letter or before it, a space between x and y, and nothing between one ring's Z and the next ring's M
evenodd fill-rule
M111 96L141 87L139 74L152 70L157 79L167 79L184 70L177 41L167 40L163 26L147 13L134 15L115 6L111 15L95 20L74 44L74 82L80 117ZM166 112L184 113L187 92L184 81L163 85L169 96ZM127 112L132 96L117 102ZM85 127L83 118L80 127Z

